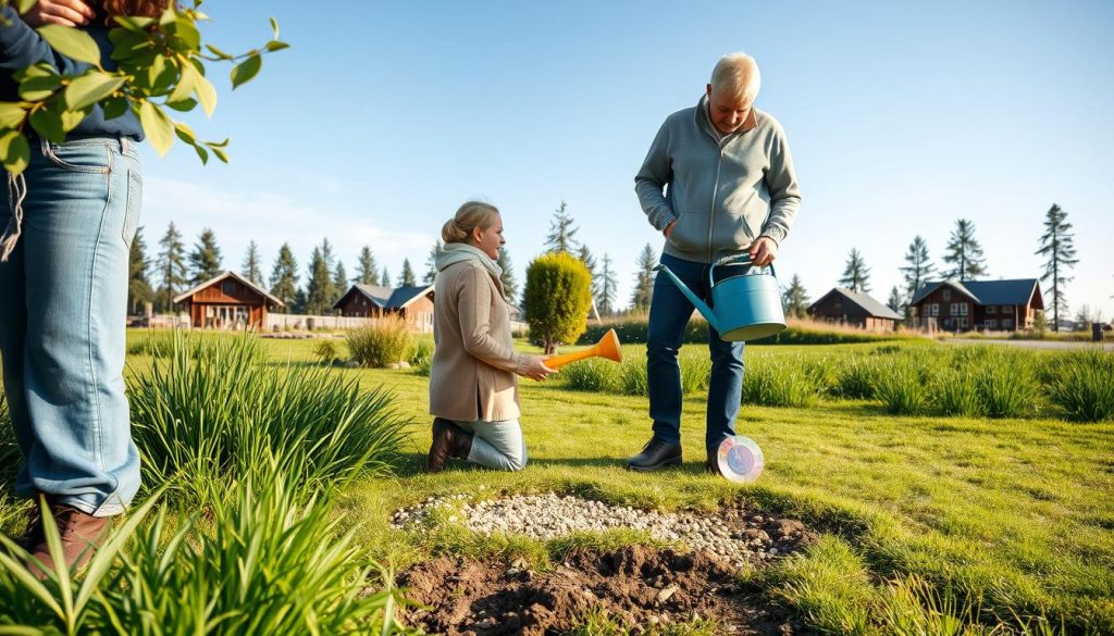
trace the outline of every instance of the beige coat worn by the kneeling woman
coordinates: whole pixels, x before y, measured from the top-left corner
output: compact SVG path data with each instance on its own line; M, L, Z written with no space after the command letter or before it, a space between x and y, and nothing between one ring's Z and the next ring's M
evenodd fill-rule
M448 420L494 422L520 414L516 353L502 283L477 261L438 272L433 291L429 412Z

